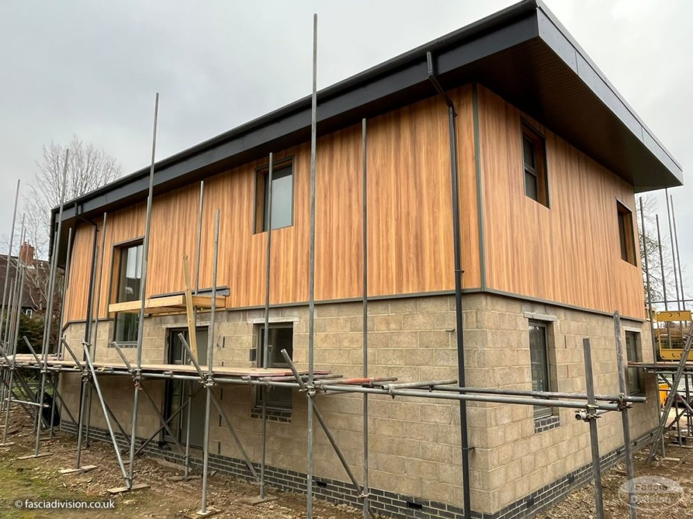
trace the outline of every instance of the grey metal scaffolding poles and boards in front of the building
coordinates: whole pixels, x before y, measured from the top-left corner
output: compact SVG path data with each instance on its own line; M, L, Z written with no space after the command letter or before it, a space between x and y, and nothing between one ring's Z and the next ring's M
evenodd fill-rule
M444 401L457 401L459 403L460 412L460 435L462 448L462 486L464 489L464 516L466 519L471 518L471 498L470 498L470 478L468 466L468 450L473 447L468 445L466 431L466 402L486 402L486 403L503 403L514 404L521 406L546 406L550 408L568 408L575 412L575 417L578 420L586 422L590 432L590 446L593 465L593 476L595 480L595 511L598 519L604 518L604 505L602 498L602 483L601 483L601 468L599 462L599 437L597 431L597 419L600 415L606 412L618 412L622 420L622 429L624 437L624 449L626 453L626 473L629 480L629 511L630 517L637 516L637 501L635 496L635 487L633 481L633 457L631 455L631 439L629 428L629 410L634 404L644 403L644 397L629 396L626 387L626 363L624 362L624 354L622 351L620 315L614 313L614 341L615 341L615 356L617 361L617 374L619 392L618 394L595 394L595 386L593 381L593 366L591 360L590 338L583 340L584 367L586 377L586 392L585 393L565 393L565 392L543 392L531 390L505 390L500 388L469 388L464 384L464 343L463 343L463 327L462 327L462 268L461 268L461 245L459 233L459 218L457 208L457 138L455 135L455 107L453 102L448 98L443 86L438 82L435 74L435 57L428 53L428 77L435 89L444 97L448 106L448 117L450 120L450 189L453 193L453 208L454 215L451 222L451 232L454 235L454 252L455 252L455 313L457 318L457 354L458 354L458 372L459 379L457 380L441 380L441 381L399 381L394 377L378 378L372 376L368 367L368 271L367 271L367 120L362 120L362 268L363 268L363 292L362 292L362 318L363 318L363 367L362 377L358 379L345 378L341 374L334 374L329 370L315 369L315 169L316 169L316 145L317 145L317 15L313 18L313 93L311 96L311 161L310 161L310 236L309 236L309 272L308 272L308 369L300 371L295 363L287 354L282 351L281 354L286 363L290 366L289 370L279 370L277 368L267 367L267 329L269 326L270 313L270 257L272 251L272 174L274 156L269 155L269 189L270 196L267 199L267 266L265 271L265 304L264 304L264 348L261 365L254 368L234 368L222 367L214 365L214 348L215 336L215 318L216 310L221 306L222 301L217 296L217 266L218 266L218 242L219 242L219 222L220 211L215 212L214 223L214 239L213 239L213 265L211 266L212 286L211 295L201 295L199 291L199 276L200 276L200 244L202 235L202 209L204 204L204 183L200 185L200 211L198 217L198 247L197 247L197 272L195 276L195 291L191 291L190 282L186 279L186 291L182 295L170 296L166 300L162 298L147 298L147 262L148 248L150 242L150 220L153 201L153 185L155 173L155 150L156 150L156 135L157 135L157 114L158 114L158 93L155 102L155 117L154 117L154 132L152 138L152 161L149 173L149 191L147 198L146 210L146 232L143 240L143 264L141 277L141 293L140 299L137 302L130 302L128 305L121 307L110 307L110 310L117 311L132 311L139 313L138 334L137 334L137 351L136 360L128 361L121 347L117 343L111 343L112 347L118 354L121 362L103 362L97 361L95 356L96 347L96 330L91 329L92 316L96 315L94 327L98 327L98 301L100 297L94 297L94 284L96 280L96 265L99 263L96 254L96 236L98 232L105 233L106 215L104 215L103 226L100 230L94 229L94 247L91 258L91 286L89 289L88 300L88 318L85 330L85 338L80 345L70 344L66 338L60 338L59 344L54 348L56 353L51 354L49 348L49 336L46 332L42 343L40 354L35 352L33 346L29 344L26 338L22 338L30 349L30 354L18 354L17 344L17 325L15 315L18 315L21 302L17 298L21 293L21 289L17 289L16 284L10 289L10 299L8 307L8 316L12 315L12 319L8 318L8 327L6 334L3 336L3 343L0 349L2 359L0 361L0 370L2 371L3 392L4 392L4 430L3 444L9 445L6 441L9 423L10 405L17 404L24 409L35 420L35 453L33 456L47 455L48 453L40 453L40 435L43 430L49 430L53 433L53 415L49 420L43 419L42 410L47 406L44 403L44 388L46 383L51 385L55 398L53 404L58 401L60 409L69 414L74 423L77 424L78 430L78 446L76 453L76 464L74 468L62 470L63 474L67 473L82 473L91 470L94 466L85 466L81 463L81 452L85 437L89 434L89 413L91 406L89 398L91 398L91 390L96 391L99 406L103 412L103 417L108 429L109 437L112 441L114 453L116 455L121 474L123 476L124 486L112 489L116 492L129 492L137 489L146 488L145 484L136 482L135 480L135 459L137 455L143 452L143 449L153 441L157 435L166 430L171 437L170 423L175 417L182 412L188 413L186 441L184 445L177 439L174 441L175 447L184 455L185 475L182 479L193 477L190 475L191 453L190 453L190 419L189 413L192 406L193 392L190 390L186 396L184 405L177 412L166 418L159 410L157 403L152 399L143 381L147 380L181 380L181 381L196 381L201 384L200 391L205 393L205 420L204 420L204 442L202 448L202 495L200 498L200 510L193 514L195 517L208 517L218 513L217 509L209 507L207 504L207 487L209 475L209 450L210 450L210 412L211 406L214 406L219 412L219 415L229 431L234 443L243 457L243 461L247 466L249 473L254 480L259 484L259 496L256 502L263 502L270 499L267 495L265 484L265 453L267 440L267 410L266 410L266 392L270 388L290 388L298 391L306 397L308 417L306 428L306 513L308 518L313 517L313 432L314 420L317 420L317 425L325 432L328 441L330 442L335 454L337 455L347 478L356 492L360 500L362 500L362 514L364 518L368 516L374 517L374 511L369 500L369 396L378 395L385 396L391 399L396 398L416 398L416 399L434 399ZM67 167L67 161L66 161ZM63 192L65 179L63 178ZM19 187L18 187L19 189ZM53 257L51 258L51 287L55 282L56 266L58 261L58 251L60 250L60 224L62 222L62 207L60 204L60 214L58 218L58 233L56 233L53 242ZM16 208L15 208L16 213ZM12 235L14 234L14 218L12 224ZM73 230L70 229L69 233ZM103 236L103 235L102 235ZM69 240L68 247L71 242ZM11 240L10 240L11 253ZM103 245L100 251L103 259ZM68 253L68 271L70 252ZM186 262L184 262L186 264ZM17 266L19 270L19 264ZM103 260L100 262L100 268L103 270ZM99 279L102 273L99 273ZM189 277L189 275L188 275ZM67 285L67 283L66 283ZM100 283L98 284L100 290ZM63 300L65 292L63 291ZM96 304L96 314L94 314L94 305ZM6 291L3 291L3 309L6 305ZM188 327L195 329L197 311L199 308L209 310L209 334L207 344L207 363L200 365L197 360L197 352L194 345L189 345L181 334L179 336L182 345L186 352L186 358L190 364L175 365L175 364L149 364L142 362L142 347L143 347L143 327L145 316L150 313L183 313L188 316ZM50 314L50 312L49 312ZM46 316L46 329L50 329L50 315ZM60 320L62 325L62 317ZM0 330L2 329L0 322ZM12 333L7 333L8 329L12 329ZM94 331L94 333L92 333ZM195 340L195 334L191 334L191 343ZM192 347L191 347L192 346ZM41 379L40 392L34 393L26 383L26 374L33 372L38 374ZM76 374L80 376L81 391L78 417L75 419L69 411L69 407L65 404L62 395L60 395L58 377L63 374ZM112 408L107 401L107 395L103 393L100 387L100 379L109 376L130 377L133 383L133 399L132 399L132 426L130 434L123 428ZM228 387L254 387L263 394L262 399L262 415L261 415L261 459L259 462L254 462L247 455L247 450L240 437L234 429L234 424L229 419L227 413L222 407L218 397L214 393L214 388ZM326 420L317 406L315 401L318 395L336 395L336 394L358 394L362 396L363 410L363 457L362 457L362 478L359 478L353 473L351 467L347 463L342 450L335 440ZM137 419L139 410L140 396L143 397L150 407L155 411L159 420L157 430L143 441L137 438ZM126 468L126 462L123 459L121 446L116 438L116 430L121 437L129 438L127 452L129 454L129 466Z

